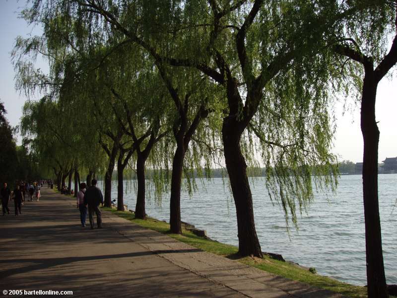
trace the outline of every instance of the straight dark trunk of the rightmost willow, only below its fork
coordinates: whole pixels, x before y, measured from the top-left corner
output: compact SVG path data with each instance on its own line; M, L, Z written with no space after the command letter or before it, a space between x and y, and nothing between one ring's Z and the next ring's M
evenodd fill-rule
M375 119L377 82L373 69L365 69L361 100L363 154L363 202L367 258L368 298L387 298L378 202L379 130Z

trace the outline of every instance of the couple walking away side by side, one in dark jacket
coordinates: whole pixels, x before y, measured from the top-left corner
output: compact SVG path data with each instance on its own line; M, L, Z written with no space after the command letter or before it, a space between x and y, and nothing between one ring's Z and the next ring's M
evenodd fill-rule
M102 228L101 210L99 204L103 205L103 195L101 190L96 187L96 179L92 179L91 186L87 187L85 183L80 183L80 191L77 193L77 208L80 210L80 222L85 226L85 218L90 220L91 229L94 228L93 215L96 214L96 224L98 228Z

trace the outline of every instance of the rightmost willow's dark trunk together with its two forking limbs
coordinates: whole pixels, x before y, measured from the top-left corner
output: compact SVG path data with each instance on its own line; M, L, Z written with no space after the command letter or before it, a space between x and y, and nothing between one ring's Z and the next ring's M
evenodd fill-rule
M397 10L396 10L397 24ZM386 285L382 251L381 221L378 200L378 146L379 129L376 124L375 102L379 81L397 64L397 35L389 53L374 70L371 57L344 45L334 46L339 55L349 57L364 67L361 97L361 132L363 152L363 204L365 218L365 248L367 260L368 298L389 297Z

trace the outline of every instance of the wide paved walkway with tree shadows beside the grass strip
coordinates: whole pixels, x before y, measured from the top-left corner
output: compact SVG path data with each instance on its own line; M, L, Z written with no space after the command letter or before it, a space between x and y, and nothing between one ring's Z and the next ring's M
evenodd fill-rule
M14 216L13 204L9 205L11 215L0 216L0 292L73 291L72 297L342 297L200 251L109 212L103 212L103 229L83 228L74 200L46 188L40 202L25 202L20 216Z

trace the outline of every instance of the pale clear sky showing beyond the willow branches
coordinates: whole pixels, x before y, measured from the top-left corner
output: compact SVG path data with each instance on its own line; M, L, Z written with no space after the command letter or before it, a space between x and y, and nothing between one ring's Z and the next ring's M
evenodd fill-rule
M14 70L10 52L15 38L20 35L40 34L40 28L28 26L18 13L25 0L0 0L0 100L7 110L7 119L12 126L18 125L26 98L14 88ZM40 65L41 64L41 65ZM38 67L46 66L39 62ZM395 67L396 70L396 67ZM379 121L379 162L386 157L397 156L397 72L394 78L384 78L379 86L376 102L376 118ZM352 99L347 99L352 102ZM360 109L356 107L343 113L343 103L335 105L336 132L333 153L339 160L362 161L363 141L360 130ZM20 138L18 139L20 140Z

